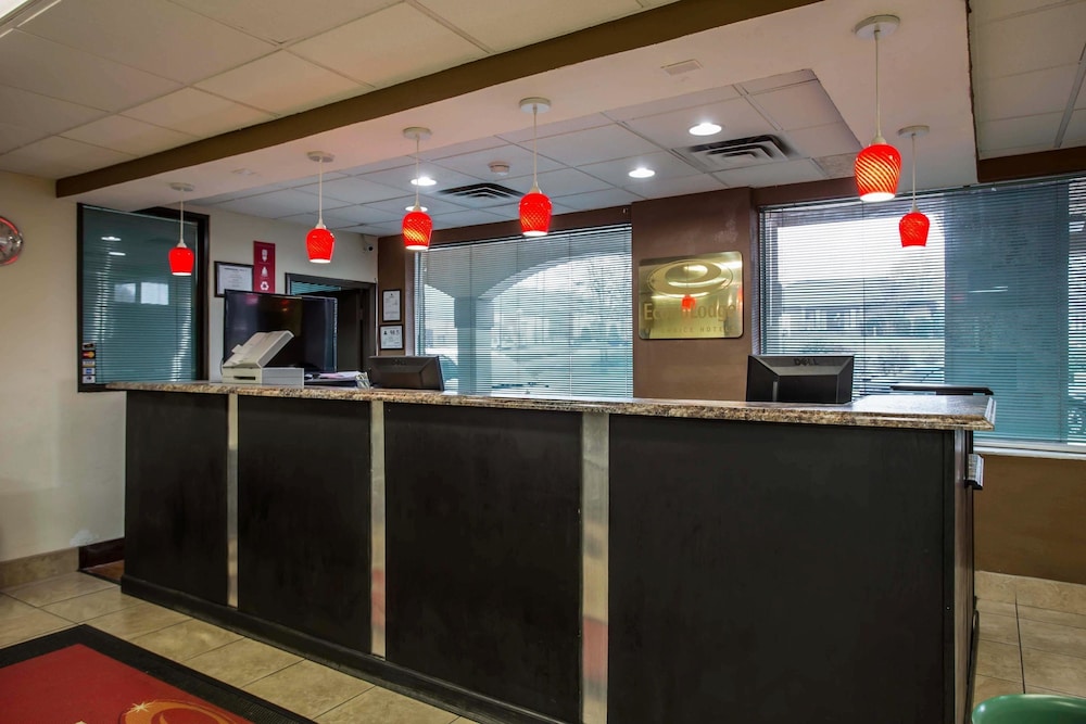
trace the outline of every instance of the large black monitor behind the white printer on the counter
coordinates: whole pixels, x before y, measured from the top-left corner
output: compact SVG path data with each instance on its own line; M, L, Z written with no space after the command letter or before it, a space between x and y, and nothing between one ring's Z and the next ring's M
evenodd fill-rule
M293 339L268 367L301 367L308 372L336 371L336 300L261 292L226 292L223 356L256 332L287 330Z

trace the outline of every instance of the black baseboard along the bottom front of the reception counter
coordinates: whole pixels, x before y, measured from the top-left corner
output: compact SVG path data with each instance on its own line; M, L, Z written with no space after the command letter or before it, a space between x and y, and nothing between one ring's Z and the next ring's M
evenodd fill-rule
M127 573L121 579L121 589L129 596L188 613L318 663L358 675L384 688L451 710L480 724L560 724L535 712L495 701L447 682L404 669L380 657L362 653L263 621L228 606L211 604L177 590L163 588Z

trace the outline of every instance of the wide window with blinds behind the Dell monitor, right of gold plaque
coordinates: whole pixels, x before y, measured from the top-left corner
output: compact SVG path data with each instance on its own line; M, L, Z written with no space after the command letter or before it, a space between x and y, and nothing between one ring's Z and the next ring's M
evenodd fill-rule
M1086 444L1086 179L760 213L762 352L856 355L857 394L895 382L992 388L1018 446Z

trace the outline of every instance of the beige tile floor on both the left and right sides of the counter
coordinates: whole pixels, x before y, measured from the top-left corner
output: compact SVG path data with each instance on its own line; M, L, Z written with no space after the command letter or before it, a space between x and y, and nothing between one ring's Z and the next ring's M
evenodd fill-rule
M978 571L974 701L1086 697L1086 586ZM70 573L0 592L0 647L76 623L101 628L323 724L473 724L231 631Z

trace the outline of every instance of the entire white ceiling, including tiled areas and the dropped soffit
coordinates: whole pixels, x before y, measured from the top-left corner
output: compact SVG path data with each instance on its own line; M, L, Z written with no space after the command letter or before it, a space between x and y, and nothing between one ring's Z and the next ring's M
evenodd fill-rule
M0 23L0 169L74 176L670 1L39 0ZM414 201L414 141L402 129L426 126L421 165L439 183L422 204L435 228L507 220L531 186L531 115L518 104L530 96L553 105L538 149L556 213L846 177L875 124L875 48L853 27L883 13L901 24L880 41L882 130L908 165L897 129L931 126L918 141L920 188L975 182L977 157L1086 144L1086 0L972 0L971 14L964 0L897 4L823 0L76 198L173 204L169 183L184 181L195 186L189 203L312 225L317 166L306 154L320 150L334 156L325 223L395 233ZM664 69L691 60L694 69ZM686 134L703 119L724 130ZM784 154L718 165L684 151L760 136ZM489 170L495 161L507 176ZM636 165L657 174L628 177ZM480 182L514 196L441 193Z

